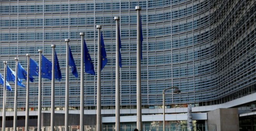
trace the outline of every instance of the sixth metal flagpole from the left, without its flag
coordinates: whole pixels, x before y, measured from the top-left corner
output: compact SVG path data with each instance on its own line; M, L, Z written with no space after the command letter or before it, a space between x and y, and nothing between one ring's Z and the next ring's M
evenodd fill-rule
M65 39L66 42L66 96L65 96L65 131L69 131L68 128L68 114L69 114L69 39Z

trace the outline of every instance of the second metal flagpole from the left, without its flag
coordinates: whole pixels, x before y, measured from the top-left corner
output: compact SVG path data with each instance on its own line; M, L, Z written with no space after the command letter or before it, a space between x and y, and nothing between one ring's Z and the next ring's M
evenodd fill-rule
M15 57L14 60L16 61L16 65L15 65L15 89L14 89L14 118L13 118L13 130L16 131L17 130L17 81L18 81L18 60L19 58Z

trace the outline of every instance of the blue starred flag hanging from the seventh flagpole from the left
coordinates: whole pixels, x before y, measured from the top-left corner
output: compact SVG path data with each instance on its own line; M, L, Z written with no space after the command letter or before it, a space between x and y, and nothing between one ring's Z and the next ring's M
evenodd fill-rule
M84 62L85 62L85 72L88 73L88 74L95 75L94 66L93 66L92 59L91 59L91 56L89 54L85 39L83 39L83 42L84 42L84 45L83 45L84 46L84 56L83 56L83 58L84 58Z

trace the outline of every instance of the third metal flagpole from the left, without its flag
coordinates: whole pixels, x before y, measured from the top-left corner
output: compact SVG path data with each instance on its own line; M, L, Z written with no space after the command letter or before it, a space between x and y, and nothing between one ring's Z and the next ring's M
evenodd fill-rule
M25 131L28 131L28 119L29 119L29 57L30 54L26 54L28 57L28 67L27 67L27 89L26 89L26 119L25 119Z

